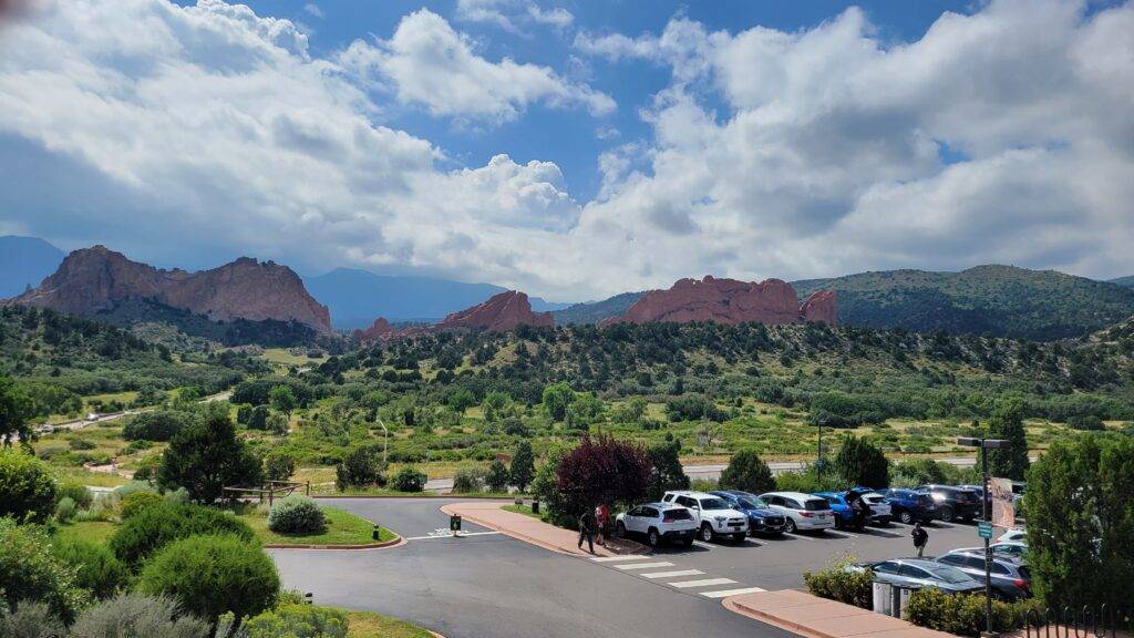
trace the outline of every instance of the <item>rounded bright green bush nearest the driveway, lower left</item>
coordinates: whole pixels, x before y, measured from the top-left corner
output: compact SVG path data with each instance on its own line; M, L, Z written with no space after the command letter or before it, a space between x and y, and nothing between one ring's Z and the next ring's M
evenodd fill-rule
M259 546L235 536L191 536L146 562L138 590L177 599L206 620L270 608L279 596L276 564Z

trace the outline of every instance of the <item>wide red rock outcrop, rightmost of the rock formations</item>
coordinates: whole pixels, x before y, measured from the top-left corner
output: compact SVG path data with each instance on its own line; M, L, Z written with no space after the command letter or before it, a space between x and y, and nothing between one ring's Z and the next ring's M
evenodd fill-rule
M680 279L668 291L650 291L620 317L600 325L654 321L713 321L717 324L799 324L837 320L835 293L813 294L802 307L795 288L780 279L739 282L705 276Z

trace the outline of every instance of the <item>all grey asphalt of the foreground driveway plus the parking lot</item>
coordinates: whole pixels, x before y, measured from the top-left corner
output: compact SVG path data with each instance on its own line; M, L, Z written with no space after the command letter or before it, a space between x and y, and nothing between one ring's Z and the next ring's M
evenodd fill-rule
M728 612L710 589L796 588L804 570L821 569L849 552L857 560L909 555L909 528L864 532L799 534L746 543L697 542L662 548L631 563L565 556L465 523L466 538L446 534L442 498L324 500L411 538L379 551L272 551L287 587L312 591L316 602L372 610L462 637L745 636L787 638L784 632ZM971 524L930 526L930 552L976 545ZM659 578L678 572L685 576ZM695 573L693 573L695 572ZM652 578L651 578L652 577ZM714 586L680 588L680 581Z

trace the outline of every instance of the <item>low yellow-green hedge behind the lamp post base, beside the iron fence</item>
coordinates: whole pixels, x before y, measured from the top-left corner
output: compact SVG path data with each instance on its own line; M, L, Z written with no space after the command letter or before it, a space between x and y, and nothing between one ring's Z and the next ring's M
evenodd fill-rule
M1010 632L1024 624L1024 614L1035 603L992 601L992 630ZM909 594L906 619L917 626L957 636L980 636L987 626L985 601L973 594L946 594L926 587Z

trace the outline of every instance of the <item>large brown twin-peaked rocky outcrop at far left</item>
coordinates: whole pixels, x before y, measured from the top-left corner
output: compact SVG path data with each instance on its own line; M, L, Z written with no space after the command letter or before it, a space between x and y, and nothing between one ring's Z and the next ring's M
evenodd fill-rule
M243 257L212 270L162 270L105 246L77 250L40 287L8 303L94 314L128 299L152 300L214 321L296 321L330 331L331 317L290 268Z

